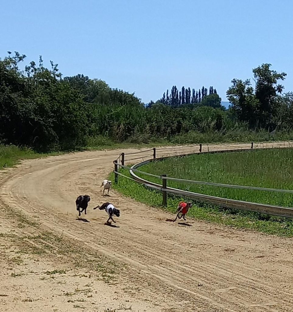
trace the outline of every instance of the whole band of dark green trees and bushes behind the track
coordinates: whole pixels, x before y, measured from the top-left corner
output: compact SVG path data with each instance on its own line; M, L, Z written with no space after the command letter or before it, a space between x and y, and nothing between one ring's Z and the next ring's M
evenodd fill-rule
M0 143L45 152L107 142L238 140L236 133L292 128L293 96L278 84L286 74L270 64L253 70L255 87L232 80L227 91L232 105L225 110L212 86L198 91L173 86L144 105L103 80L63 77L57 64L47 68L41 57L22 70L25 58L9 52L0 59Z

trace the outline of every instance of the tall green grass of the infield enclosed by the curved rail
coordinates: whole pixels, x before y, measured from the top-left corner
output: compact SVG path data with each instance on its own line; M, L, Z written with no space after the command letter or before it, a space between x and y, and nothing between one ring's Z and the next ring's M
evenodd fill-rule
M265 188L293 189L293 149L195 154L172 157L142 166L140 170L188 180ZM142 174L140 174L143 176ZM161 183L160 179L148 180ZM230 199L293 207L293 194L243 190L167 181L168 186Z

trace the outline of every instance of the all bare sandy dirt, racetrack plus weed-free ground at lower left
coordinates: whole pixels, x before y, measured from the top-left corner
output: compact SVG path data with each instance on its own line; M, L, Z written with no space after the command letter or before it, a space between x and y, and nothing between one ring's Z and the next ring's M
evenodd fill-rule
M210 145L209 150L237 147L249 148L250 144ZM171 150L160 150L157 156ZM182 148L182 152L188 150L190 148ZM203 150L207 147L203 146ZM93 254L105 255L104 263L114 261L117 267L125 264L117 273L115 283L106 285L94 278L94 295L86 298L85 303L74 306L76 310L109 308L123 311L130 306L131 311L170 312L293 310L291 239L190 219L189 227L166 222L166 218L172 217L170 214L113 192L110 201L121 209L121 217L116 228L105 226L105 213L92 208L105 201L99 186L120 152L93 151L28 160L0 176L3 217L0 232L15 231L17 235L25 235L26 231L30 234L51 231L66 240L76 241ZM148 155L150 152L137 156L147 158ZM92 198L86 216L89 222L76 220L74 200L84 193ZM21 210L39 227L34 230L28 225L27 229L17 229L13 217L4 216L5 205L14 212ZM35 241L27 237L26 244L34 245ZM25 266L22 270L27 275L12 278L13 268L21 270L21 267L9 265L5 257L9 257L7 252L19 246L14 246L13 241L5 243L5 238L1 240L4 285L1 283L0 286L0 310L3 306L4 311L72 311L68 297L59 293L64 294L69 286L81 283L76 276L85 269L74 267L72 270L77 270L77 274L62 275L65 281L62 289L61 282L53 287L29 274L34 268L41 274L49 266L70 266L69 256L58 256L62 246L57 246L57 242L55 245L53 240L50 241L55 248L53 253L41 259L23 256ZM34 296L35 300L24 300L27 296Z

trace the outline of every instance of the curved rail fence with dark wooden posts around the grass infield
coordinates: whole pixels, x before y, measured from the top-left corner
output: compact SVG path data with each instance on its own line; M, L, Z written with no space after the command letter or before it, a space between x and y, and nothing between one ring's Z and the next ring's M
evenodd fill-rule
M197 145L198 147L198 145ZM286 147L284 147L286 148ZM268 148L261 148L261 149L268 149ZM270 148L269 148L270 149ZM228 198L222 198L222 197L216 197L216 196L211 196L211 195L205 195L205 194L200 194L200 193L194 193L194 192L189 192L189 191L183 191L177 188L171 188L167 186L167 181L168 180L176 180L176 181L182 181L182 182L187 182L187 183L196 183L196 184L202 184L202 185L211 185L211 186L219 186L219 187L227 187L227 188L238 188L238 189L252 189L252 190L259 190L259 191L269 191L269 192L280 192L280 193L293 193L293 190L283 190L283 189L274 189L274 188L260 188L260 187L251 187L251 186L242 186L242 185L229 185L229 184L223 184L223 183L212 183L212 182L204 182L204 181L193 181L193 180L186 180L186 179L179 179L179 178L171 178L167 177L166 175L154 175L151 173L146 173L141 170L138 170L137 168L153 162L154 160L163 160L166 158L174 157L174 156L186 156L190 154L205 154L205 153L231 153L231 152L249 152L252 151L253 149L253 143L251 144L250 149L229 149L229 150L219 150L219 151L207 151L207 152L202 152L202 146L200 144L199 146L199 152L191 152L188 154L180 154L180 155L171 155L171 153L166 156L166 157L160 157L156 158L156 149L153 149L153 154L149 155L148 157L152 156L152 158L149 158L147 160L144 160L140 163L137 163L133 165L132 167L127 167L124 165L124 153L122 153L122 161L121 163L117 162L117 160L114 161L114 173L115 173L115 183L118 182L118 175L121 175L125 178L131 179L133 181L136 181L138 183L143 184L147 188L151 188L157 191L162 192L162 197L163 197L163 205L167 205L167 193L175 194L175 195L181 195L184 197L189 197L193 198L197 201L200 202L208 202L210 204L218 205L221 207L227 207L227 208L236 208L236 209L241 209L241 210L246 210L246 211L252 211L252 212L258 212L258 213L266 213L270 215L275 215L275 216L280 216L280 217L288 217L288 218L293 218L293 208L290 207L282 207L282 206L275 206L275 205L268 205L268 204L260 204L260 203L255 203L255 202L245 202L245 201L240 201L240 200L235 200L235 199L228 199ZM147 150L150 151L150 150ZM143 152L147 152L143 151ZM142 152L142 151L140 151ZM135 154L135 153L131 153ZM139 157L140 159L142 157ZM132 159L128 159L128 161L131 161ZM134 160L134 159L133 159ZM131 178L123 175L122 173L119 172L118 167L125 168L129 170ZM146 179L143 179L139 177L136 173L142 173L145 175L153 176L155 178L160 178L162 180L161 184L158 183L153 183L151 181L148 181Z

